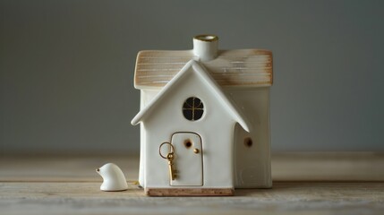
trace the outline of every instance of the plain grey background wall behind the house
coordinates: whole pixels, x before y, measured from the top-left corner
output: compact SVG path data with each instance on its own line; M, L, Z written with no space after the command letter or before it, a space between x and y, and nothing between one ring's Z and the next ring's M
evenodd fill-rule
M142 49L274 54L272 149L384 150L384 1L1 1L1 152L134 153Z

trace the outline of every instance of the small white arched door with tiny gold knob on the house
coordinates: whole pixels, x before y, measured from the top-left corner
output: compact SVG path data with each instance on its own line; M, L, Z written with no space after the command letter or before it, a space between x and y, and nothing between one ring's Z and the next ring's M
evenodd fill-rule
M177 176L171 180L175 186L201 186L202 147L201 137L197 133L174 133L171 140L175 148L175 169Z

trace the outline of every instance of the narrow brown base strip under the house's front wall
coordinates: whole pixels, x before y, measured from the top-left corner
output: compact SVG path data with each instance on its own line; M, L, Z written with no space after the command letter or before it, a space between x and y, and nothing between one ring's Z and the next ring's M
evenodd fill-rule
M231 188L146 188L149 196L225 196L234 195Z

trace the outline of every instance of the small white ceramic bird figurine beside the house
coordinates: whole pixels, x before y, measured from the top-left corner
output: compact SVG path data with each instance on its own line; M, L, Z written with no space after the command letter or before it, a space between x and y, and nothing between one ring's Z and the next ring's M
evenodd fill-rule
M102 191L124 191L128 189L123 171L114 163L107 163L96 169L98 175L103 177Z

